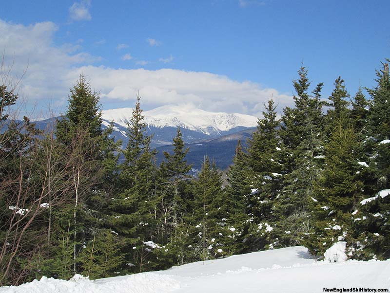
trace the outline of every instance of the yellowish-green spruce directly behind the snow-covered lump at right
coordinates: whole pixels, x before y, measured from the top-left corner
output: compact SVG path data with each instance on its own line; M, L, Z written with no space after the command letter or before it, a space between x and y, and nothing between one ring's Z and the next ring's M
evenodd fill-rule
M353 247L358 233L351 220L363 193L361 166L356 157L358 141L353 129L346 128L342 119L337 119L338 125L325 145L324 170L312 198L313 229L307 234L305 245L318 256L340 240L347 240L347 247Z

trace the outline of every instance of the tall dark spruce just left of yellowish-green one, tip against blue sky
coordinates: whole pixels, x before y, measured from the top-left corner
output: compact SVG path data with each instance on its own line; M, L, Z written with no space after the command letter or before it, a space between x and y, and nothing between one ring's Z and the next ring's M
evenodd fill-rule
M301 67L298 74L299 79L293 81L295 108L283 110L284 125L280 132L286 174L274 213L279 217L278 241L282 246L299 244L303 233L308 233L313 186L323 165L323 103L320 100L323 84L318 84L310 95L307 70Z

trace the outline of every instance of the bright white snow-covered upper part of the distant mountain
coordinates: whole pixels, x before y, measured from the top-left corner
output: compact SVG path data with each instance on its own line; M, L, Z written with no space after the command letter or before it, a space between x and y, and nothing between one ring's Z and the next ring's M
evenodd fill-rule
M132 115L132 108L103 110L102 118L108 122L126 127ZM210 134L236 127L254 127L257 118L244 114L228 114L223 112L207 112L190 106L162 106L154 110L144 111L145 123L158 128L181 127L193 131Z

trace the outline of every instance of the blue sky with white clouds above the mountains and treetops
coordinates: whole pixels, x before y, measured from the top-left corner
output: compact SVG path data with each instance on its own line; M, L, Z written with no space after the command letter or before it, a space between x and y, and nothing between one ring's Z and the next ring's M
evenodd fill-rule
M323 98L375 86L390 58L389 0L12 0L0 5L2 83L20 114L58 115L80 74L103 110L191 107L261 116L293 106L305 66Z

